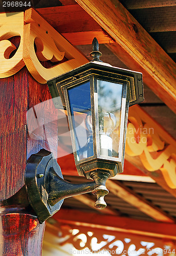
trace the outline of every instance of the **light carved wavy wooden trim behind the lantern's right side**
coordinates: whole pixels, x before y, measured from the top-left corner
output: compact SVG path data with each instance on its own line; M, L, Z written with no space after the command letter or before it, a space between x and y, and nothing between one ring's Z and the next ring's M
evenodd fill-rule
M125 158L176 197L176 141L138 105L129 109Z

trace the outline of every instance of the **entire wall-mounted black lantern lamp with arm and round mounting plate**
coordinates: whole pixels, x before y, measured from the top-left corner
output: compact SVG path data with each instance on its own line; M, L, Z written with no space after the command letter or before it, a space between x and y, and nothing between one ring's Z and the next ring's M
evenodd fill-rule
M104 208L106 180L123 171L128 109L143 101L142 74L100 61L96 38L92 50L92 61L47 83L56 108L59 96L66 107L78 173L94 181L68 183L49 152L32 155L26 187L41 222L59 210L62 199L90 191L97 196L95 207Z

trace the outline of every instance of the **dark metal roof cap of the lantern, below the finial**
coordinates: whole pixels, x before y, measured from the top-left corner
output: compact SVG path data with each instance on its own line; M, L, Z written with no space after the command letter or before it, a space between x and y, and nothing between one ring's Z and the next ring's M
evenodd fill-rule
M58 87L58 84L70 83L72 80L80 79L83 82L84 77L91 75L98 75L100 80L102 79L118 79L123 82L127 82L129 91L129 105L134 105L142 102L143 97L143 83L142 83L142 73L136 72L128 69L117 68L111 66L110 64L102 61L90 61L76 69L69 72L61 74L51 80L47 81L49 90L52 90L52 86Z

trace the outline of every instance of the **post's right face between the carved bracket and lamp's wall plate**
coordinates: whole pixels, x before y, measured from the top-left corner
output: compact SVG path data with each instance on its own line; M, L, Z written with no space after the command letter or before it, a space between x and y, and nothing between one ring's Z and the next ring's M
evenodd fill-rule
M44 148L57 158L57 110L47 84L40 84L28 74L29 105L27 114L27 158Z

